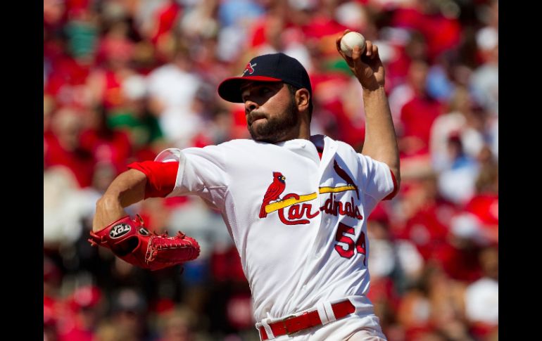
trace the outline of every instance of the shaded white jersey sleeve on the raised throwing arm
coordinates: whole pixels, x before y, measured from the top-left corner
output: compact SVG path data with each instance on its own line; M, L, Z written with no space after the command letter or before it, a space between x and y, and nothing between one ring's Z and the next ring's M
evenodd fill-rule
M399 188L388 165L367 155L358 154L358 156L361 162L365 195L370 196L374 202L393 198Z

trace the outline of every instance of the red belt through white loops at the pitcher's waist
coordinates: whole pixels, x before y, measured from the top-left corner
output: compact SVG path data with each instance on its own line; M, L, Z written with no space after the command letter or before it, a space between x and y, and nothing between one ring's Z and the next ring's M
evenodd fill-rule
M355 311L355 307L350 300L344 300L342 302L332 304L332 310L333 314L335 315L335 319L338 320L342 319L348 314L352 314ZM322 321L320 320L318 310L316 309L313 311L305 311L299 316L286 317L284 320L269 323L269 326L273 332L273 335L275 335L275 337L279 337L282 335L297 333L303 329L322 326ZM265 328L261 326L259 330L262 340L269 340L267 333L265 333Z

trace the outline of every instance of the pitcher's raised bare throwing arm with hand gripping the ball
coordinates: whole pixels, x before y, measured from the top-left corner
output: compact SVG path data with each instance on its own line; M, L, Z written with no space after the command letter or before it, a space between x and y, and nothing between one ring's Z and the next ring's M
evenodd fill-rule
M348 30L344 34L347 32ZM342 35L336 39L337 51L346 60L363 88L366 122L362 153L388 165L398 188L401 183L399 150L388 98L384 91L384 65L380 60L378 47L367 40L365 51L361 53L360 48L355 46L350 58L341 52L341 38Z

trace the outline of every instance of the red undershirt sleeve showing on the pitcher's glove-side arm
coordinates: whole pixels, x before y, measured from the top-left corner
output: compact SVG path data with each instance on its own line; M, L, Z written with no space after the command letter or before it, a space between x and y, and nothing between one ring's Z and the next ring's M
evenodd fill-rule
M145 199L164 198L175 188L179 162L132 162L127 167L137 169L146 175Z

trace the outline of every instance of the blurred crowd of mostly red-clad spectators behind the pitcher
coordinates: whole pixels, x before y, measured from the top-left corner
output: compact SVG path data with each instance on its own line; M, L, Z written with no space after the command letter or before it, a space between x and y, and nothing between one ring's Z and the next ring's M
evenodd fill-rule
M498 340L498 1L44 0L44 340L259 340L239 255L198 198L128 210L197 238L150 272L91 247L94 205L133 161L248 138L216 88L282 51L313 84L313 134L358 151L345 29L379 46L403 183L368 218L369 297L390 341Z

